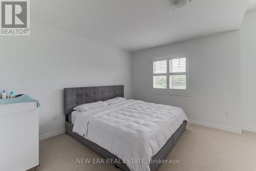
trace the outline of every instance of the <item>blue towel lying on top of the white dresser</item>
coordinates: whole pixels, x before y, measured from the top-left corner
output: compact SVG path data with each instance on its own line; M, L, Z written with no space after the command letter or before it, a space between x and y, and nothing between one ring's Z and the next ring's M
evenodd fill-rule
M0 99L0 105L3 104L13 104L13 103L24 103L24 102L31 102L31 101L36 101L37 108L40 106L40 103L38 100L33 99L29 97L26 94L23 94L21 96L18 96L16 98L10 98L10 99Z

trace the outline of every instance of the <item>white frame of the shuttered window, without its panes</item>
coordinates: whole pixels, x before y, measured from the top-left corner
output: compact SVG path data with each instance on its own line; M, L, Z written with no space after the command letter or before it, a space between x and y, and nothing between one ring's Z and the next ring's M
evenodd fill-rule
M163 55L165 57L153 58L150 60L150 93L153 94L168 94L168 95L177 95L177 96L190 96L189 92L189 52L181 52L175 55ZM170 59L178 59L183 58L181 56L186 56L186 72L177 72L177 73L169 73L169 60ZM167 72L163 74L154 74L153 73L153 62L167 60ZM166 76L166 89L154 89L153 88L153 76ZM186 75L186 90L182 89L169 89L169 76L170 75Z

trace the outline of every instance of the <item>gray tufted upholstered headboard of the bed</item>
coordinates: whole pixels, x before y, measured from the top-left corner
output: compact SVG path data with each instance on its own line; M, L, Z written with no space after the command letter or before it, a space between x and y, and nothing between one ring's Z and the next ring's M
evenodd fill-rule
M71 114L73 108L77 105L104 101L114 97L123 97L123 86L65 88L64 114Z

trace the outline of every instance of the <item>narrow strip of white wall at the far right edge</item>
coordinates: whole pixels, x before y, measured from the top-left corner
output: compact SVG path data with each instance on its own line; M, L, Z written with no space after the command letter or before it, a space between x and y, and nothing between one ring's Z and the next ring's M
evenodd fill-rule
M256 132L256 11L246 13L241 29L241 111L244 130Z

